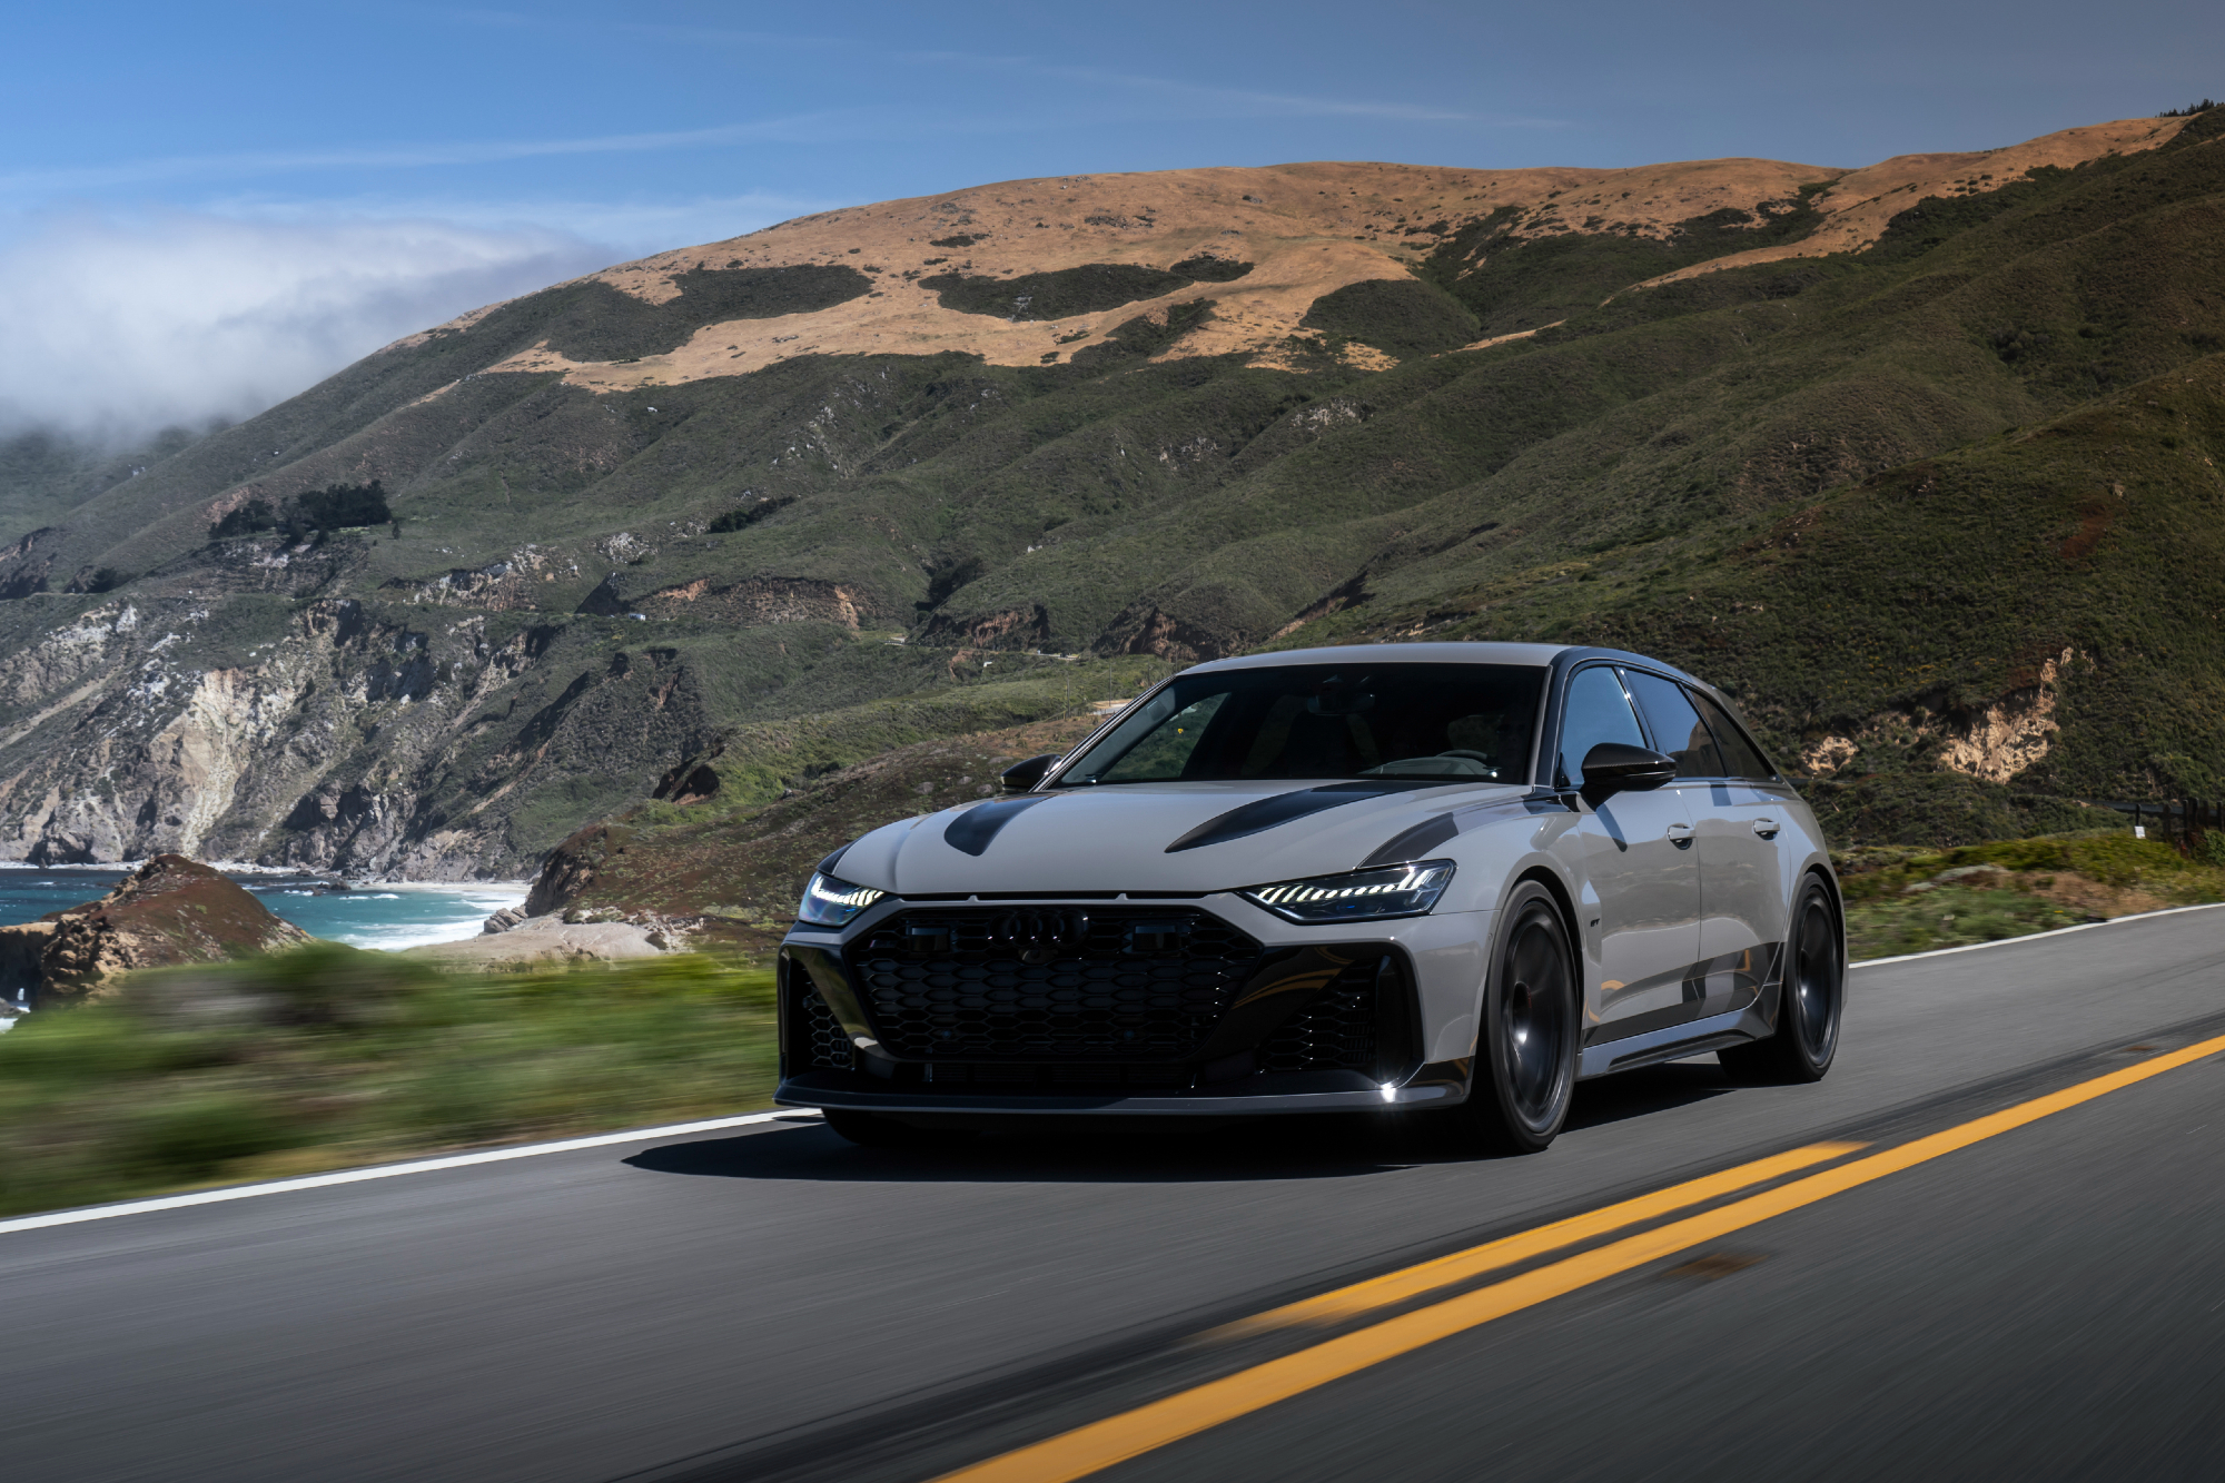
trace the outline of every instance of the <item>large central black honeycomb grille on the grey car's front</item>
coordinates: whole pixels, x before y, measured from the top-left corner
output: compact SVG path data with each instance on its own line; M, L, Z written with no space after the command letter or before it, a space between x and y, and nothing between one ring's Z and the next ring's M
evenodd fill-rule
M850 949L874 1033L908 1060L1181 1060L1257 962L1186 909L903 911Z

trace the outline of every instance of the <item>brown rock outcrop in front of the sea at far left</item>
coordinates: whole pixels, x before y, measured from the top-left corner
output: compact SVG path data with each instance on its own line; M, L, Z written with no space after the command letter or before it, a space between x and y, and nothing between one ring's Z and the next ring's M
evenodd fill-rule
M98 902L0 929L0 975L36 1009L98 998L134 969L222 962L309 942L254 895L185 855L156 855Z

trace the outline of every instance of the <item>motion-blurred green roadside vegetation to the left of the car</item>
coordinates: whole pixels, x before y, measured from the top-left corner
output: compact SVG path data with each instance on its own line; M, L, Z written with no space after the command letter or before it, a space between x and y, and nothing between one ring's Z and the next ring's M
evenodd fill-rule
M0 1214L765 1104L772 975L676 953L441 973L312 944L0 1035Z

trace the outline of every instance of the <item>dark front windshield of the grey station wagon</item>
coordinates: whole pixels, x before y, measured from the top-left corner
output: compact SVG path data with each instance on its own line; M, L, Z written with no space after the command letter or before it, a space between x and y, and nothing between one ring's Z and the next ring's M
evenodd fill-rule
M1544 670L1293 664L1181 675L1055 786L1415 777L1522 782Z

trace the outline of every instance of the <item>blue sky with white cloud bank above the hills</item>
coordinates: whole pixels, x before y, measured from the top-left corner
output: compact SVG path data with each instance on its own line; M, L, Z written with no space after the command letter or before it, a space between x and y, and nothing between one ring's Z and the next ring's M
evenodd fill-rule
M2225 91L2225 7L76 4L0 87L0 430L245 414L830 205L1375 158L1865 165ZM22 370L33 363L38 372Z

